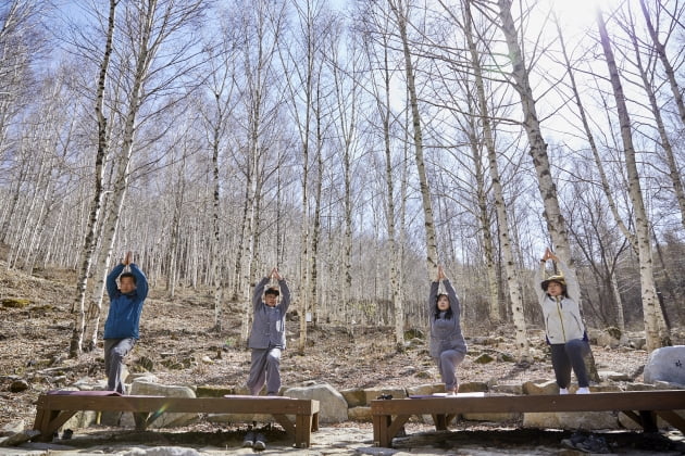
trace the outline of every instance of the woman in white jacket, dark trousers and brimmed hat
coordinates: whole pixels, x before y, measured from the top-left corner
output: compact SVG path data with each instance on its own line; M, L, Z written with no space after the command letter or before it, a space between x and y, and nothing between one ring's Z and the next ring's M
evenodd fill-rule
M561 275L545 278L545 265L551 259L559 265ZM547 343L551 349L552 368L559 385L559 394L569 394L571 369L578 381L576 394L589 393L589 378L585 357L590 353L585 325L578 302L581 290L575 280L570 280L569 266L549 249L540 259L537 290L545 317Z

